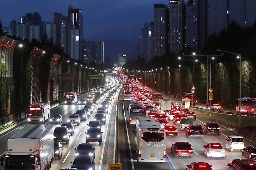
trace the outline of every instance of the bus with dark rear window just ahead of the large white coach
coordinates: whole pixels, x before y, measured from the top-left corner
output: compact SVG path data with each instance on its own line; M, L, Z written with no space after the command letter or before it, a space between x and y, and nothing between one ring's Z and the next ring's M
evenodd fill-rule
M139 118L146 118L146 109L142 104L129 104L127 111L129 114L128 121L130 125L135 125Z

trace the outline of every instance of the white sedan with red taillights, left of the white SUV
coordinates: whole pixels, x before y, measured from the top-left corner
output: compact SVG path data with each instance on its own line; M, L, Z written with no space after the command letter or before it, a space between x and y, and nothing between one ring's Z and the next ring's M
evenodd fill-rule
M225 158L225 149L219 143L208 143L203 146L203 154L207 158Z

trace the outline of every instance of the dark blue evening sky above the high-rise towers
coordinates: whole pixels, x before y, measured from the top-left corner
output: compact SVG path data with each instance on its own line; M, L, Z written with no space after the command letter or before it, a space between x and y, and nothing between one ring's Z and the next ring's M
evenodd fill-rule
M52 22L54 12L67 16L67 6L74 5L84 17L83 38L105 41L105 56L116 62L118 53L137 55L140 29L153 21L154 3L169 0L0 0L0 19L9 27L9 21L39 12L42 21Z

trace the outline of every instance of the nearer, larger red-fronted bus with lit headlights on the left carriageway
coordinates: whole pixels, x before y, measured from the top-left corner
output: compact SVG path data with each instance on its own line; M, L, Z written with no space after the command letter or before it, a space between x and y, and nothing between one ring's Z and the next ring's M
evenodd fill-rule
M49 102L33 103L28 108L28 121L44 122L51 117L51 106Z

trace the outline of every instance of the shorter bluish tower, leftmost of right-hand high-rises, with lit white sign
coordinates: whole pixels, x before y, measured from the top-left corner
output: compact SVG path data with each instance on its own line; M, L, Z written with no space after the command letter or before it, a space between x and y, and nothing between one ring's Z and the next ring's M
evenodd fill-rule
M151 28L152 23L146 23L140 31L140 57L146 62L151 61Z

